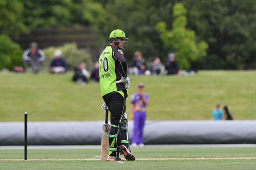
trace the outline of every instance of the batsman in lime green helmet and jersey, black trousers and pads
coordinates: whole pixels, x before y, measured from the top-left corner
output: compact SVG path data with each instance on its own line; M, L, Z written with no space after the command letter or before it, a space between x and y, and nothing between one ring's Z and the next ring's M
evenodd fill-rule
M111 112L111 128L109 135L109 156L107 161L135 160L129 147L127 129L126 98L130 79L127 77L127 62L122 49L127 43L122 30L110 33L110 45L106 46L99 58L100 91L104 100L103 110L108 107Z

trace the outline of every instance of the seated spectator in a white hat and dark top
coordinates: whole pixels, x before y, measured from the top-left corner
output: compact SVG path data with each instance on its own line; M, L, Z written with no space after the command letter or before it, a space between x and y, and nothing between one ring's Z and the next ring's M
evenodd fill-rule
M67 65L65 59L62 58L62 52L56 50L54 52L54 59L50 64L50 72L52 74L62 74L67 71Z

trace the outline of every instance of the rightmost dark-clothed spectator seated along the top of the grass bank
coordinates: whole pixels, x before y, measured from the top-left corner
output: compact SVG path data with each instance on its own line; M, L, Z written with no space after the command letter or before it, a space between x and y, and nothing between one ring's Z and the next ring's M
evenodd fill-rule
M168 61L166 62L165 69L167 71L167 75L179 75L180 74L180 66L179 66L179 63L175 59L174 53L168 54Z

